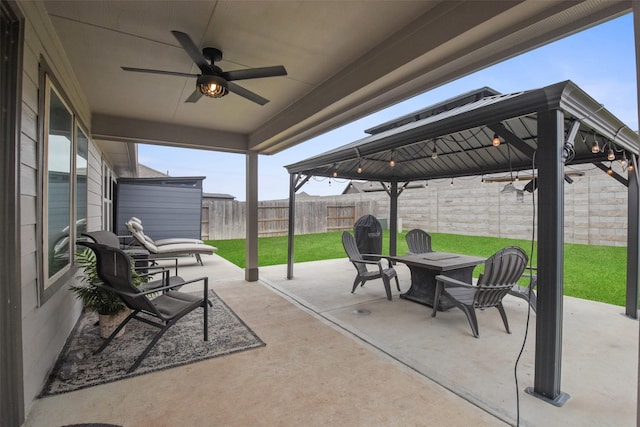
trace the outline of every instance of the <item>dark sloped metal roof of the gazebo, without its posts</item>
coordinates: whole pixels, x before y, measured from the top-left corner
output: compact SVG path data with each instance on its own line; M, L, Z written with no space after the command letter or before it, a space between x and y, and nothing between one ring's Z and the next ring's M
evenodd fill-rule
M367 130L372 135L285 166L290 174L390 182L532 168L538 114L564 114L567 165L608 165L638 155L638 134L571 81L511 94L489 88L460 95ZM494 146L494 135L502 143ZM598 143L600 151L592 152ZM432 158L433 153L437 158ZM395 166L390 167L391 159ZM360 170L360 172L359 172Z

